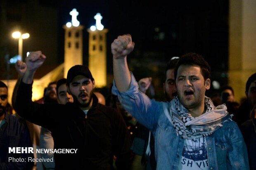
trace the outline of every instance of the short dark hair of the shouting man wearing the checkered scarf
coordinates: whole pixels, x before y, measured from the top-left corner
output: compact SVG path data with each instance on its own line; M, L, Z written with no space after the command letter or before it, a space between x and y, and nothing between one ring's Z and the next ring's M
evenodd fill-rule
M174 70L175 80L177 78L177 71L181 65L189 65L189 66L199 66L201 68L201 73L204 77L204 80L211 77L211 68L209 64L204 60L204 58L197 53L187 53L180 57L178 63L176 64Z

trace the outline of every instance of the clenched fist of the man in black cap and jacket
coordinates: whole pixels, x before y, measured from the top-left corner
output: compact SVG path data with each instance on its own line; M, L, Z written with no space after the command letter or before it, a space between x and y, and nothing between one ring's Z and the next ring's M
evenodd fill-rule
M41 51L30 52L26 57L27 71L36 71L45 61L46 57Z

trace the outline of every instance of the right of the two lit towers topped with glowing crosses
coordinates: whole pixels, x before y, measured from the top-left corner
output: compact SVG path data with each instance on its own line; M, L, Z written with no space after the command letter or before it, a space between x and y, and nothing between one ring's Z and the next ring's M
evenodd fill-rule
M107 32L101 24L102 16L97 13L94 17L95 26L87 29L89 32L89 69L95 79L96 87L107 85Z

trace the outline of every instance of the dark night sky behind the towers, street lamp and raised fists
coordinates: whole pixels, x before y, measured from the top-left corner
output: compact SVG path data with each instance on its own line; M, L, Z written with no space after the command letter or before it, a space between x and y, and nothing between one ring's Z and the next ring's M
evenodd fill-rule
M71 21L69 12L76 8L83 31L83 58L88 63L87 28L95 24L99 12L107 33L107 72L112 71L110 45L118 36L129 33L135 49L129 55L130 70L136 78L162 77L165 64L173 56L187 52L202 54L212 69L212 80L225 84L228 70L228 0L183 1L117 1L117 0L4 0L6 26L1 25L1 72L5 78L5 54L17 54L17 40L10 37L15 26L31 33L24 40L24 51L43 50L48 59L42 71L53 69L64 61L64 29ZM36 4L37 3L37 4ZM3 10L2 10L3 12ZM4 15L2 15L4 16ZM52 17L52 18L51 18ZM48 21L47 21L48 19ZM3 22L5 19L1 21ZM55 30L56 29L56 30ZM8 35L8 36L7 36ZM8 42L9 41L9 42ZM49 67L49 68L47 68ZM16 75L11 66L9 78ZM222 76L220 76L222 75Z

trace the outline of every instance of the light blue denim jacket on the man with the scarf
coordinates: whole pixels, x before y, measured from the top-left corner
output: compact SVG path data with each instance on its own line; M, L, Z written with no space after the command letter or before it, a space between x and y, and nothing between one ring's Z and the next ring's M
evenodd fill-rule
M115 82L112 93L118 95L123 107L140 123L149 128L155 139L157 170L178 170L184 140L167 119L164 107L168 102L156 102L138 90L131 73L130 89L119 92ZM247 149L237 123L230 120L206 137L209 170L249 170Z

